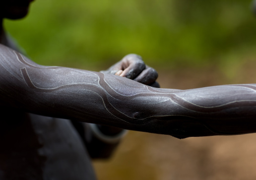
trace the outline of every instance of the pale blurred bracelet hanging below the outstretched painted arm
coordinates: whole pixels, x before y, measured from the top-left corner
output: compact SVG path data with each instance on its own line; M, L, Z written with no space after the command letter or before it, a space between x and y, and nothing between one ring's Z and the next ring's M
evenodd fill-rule
M89 127L92 130L92 133L101 141L106 142L106 143L110 143L110 144L114 144L117 143L123 136L125 136L125 134L127 133L128 130L123 129L121 132L119 132L116 135L105 135L103 134L99 128L97 127L97 124L92 124L92 123L88 123Z

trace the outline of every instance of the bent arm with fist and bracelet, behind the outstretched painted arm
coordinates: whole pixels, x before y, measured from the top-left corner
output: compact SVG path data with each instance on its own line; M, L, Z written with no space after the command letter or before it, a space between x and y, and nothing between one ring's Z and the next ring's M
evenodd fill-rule
M159 87L156 82L158 77L156 70L147 66L136 54L126 55L109 69L101 72L126 77L152 87ZM126 129L108 125L83 123L76 120L73 120L72 123L83 139L91 158L109 158L127 132Z

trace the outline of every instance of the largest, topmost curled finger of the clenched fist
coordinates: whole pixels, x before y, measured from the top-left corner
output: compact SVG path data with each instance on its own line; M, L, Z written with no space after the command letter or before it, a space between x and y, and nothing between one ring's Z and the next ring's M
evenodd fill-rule
M123 72L120 74L120 76L129 79L134 79L146 68L142 58L136 54L125 56L121 62Z

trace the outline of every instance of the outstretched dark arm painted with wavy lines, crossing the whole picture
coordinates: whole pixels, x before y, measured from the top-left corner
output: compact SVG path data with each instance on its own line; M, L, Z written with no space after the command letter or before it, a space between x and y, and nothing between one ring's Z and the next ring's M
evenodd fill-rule
M111 74L40 66L0 47L4 106L179 138L256 132L256 85L158 89Z

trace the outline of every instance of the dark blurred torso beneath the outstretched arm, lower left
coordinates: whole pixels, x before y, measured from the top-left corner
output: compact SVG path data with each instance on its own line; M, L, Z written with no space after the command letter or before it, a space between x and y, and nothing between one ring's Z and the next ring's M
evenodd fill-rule
M0 179L96 179L69 120L3 109L0 146Z

